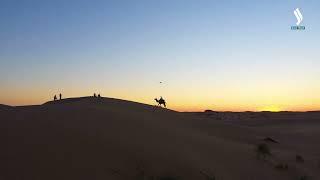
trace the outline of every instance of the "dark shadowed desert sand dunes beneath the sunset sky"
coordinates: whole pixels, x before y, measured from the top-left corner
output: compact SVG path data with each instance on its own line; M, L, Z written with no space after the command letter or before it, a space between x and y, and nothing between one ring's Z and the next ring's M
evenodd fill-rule
M0 180L320 179L319 112L178 113L86 97L0 106L0 128ZM271 157L257 158L259 143Z

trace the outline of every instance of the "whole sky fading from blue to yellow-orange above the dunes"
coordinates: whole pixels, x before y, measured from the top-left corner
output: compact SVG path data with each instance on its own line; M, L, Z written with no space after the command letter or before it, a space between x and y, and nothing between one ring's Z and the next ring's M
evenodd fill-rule
M305 31L293 31L295 8ZM102 96L171 109L320 109L320 2L1 0L0 103ZM159 82L163 83L160 84Z

